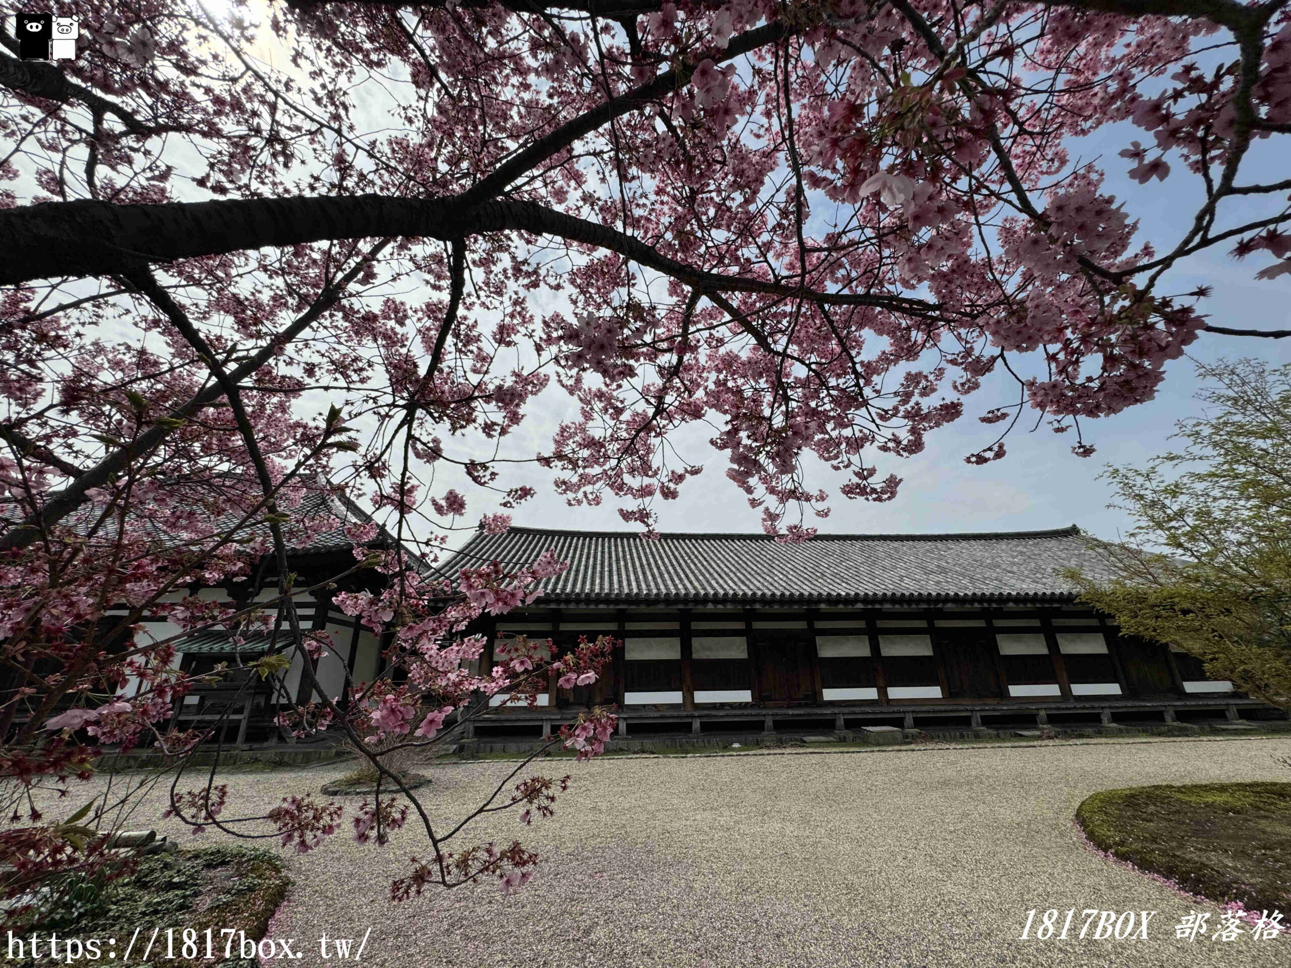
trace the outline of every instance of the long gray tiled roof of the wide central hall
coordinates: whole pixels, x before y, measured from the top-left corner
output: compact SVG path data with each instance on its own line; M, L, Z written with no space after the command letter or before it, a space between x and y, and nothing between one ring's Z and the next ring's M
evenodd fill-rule
M661 534L511 528L478 532L442 573L553 549L569 569L544 580L550 604L875 604L1072 600L1059 568L1106 577L1075 527L968 534Z

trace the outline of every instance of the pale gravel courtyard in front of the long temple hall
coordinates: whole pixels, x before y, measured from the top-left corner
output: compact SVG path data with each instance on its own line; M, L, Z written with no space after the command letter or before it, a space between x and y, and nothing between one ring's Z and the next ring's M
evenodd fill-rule
M271 934L307 940L296 964L323 963L324 932L371 928L364 963L402 967L1287 965L1286 937L1176 940L1188 901L1072 825L1095 790L1291 780L1282 756L1291 738L547 763L574 777L554 818L493 817L467 842L542 853L516 896L487 883L391 905L421 843L405 830L377 851L342 830L293 857ZM460 817L513 767L432 768L434 813ZM267 808L340 772L234 774L230 792ZM1158 914L1148 941L1020 941L1033 907ZM1198 909L1214 931L1217 909Z

